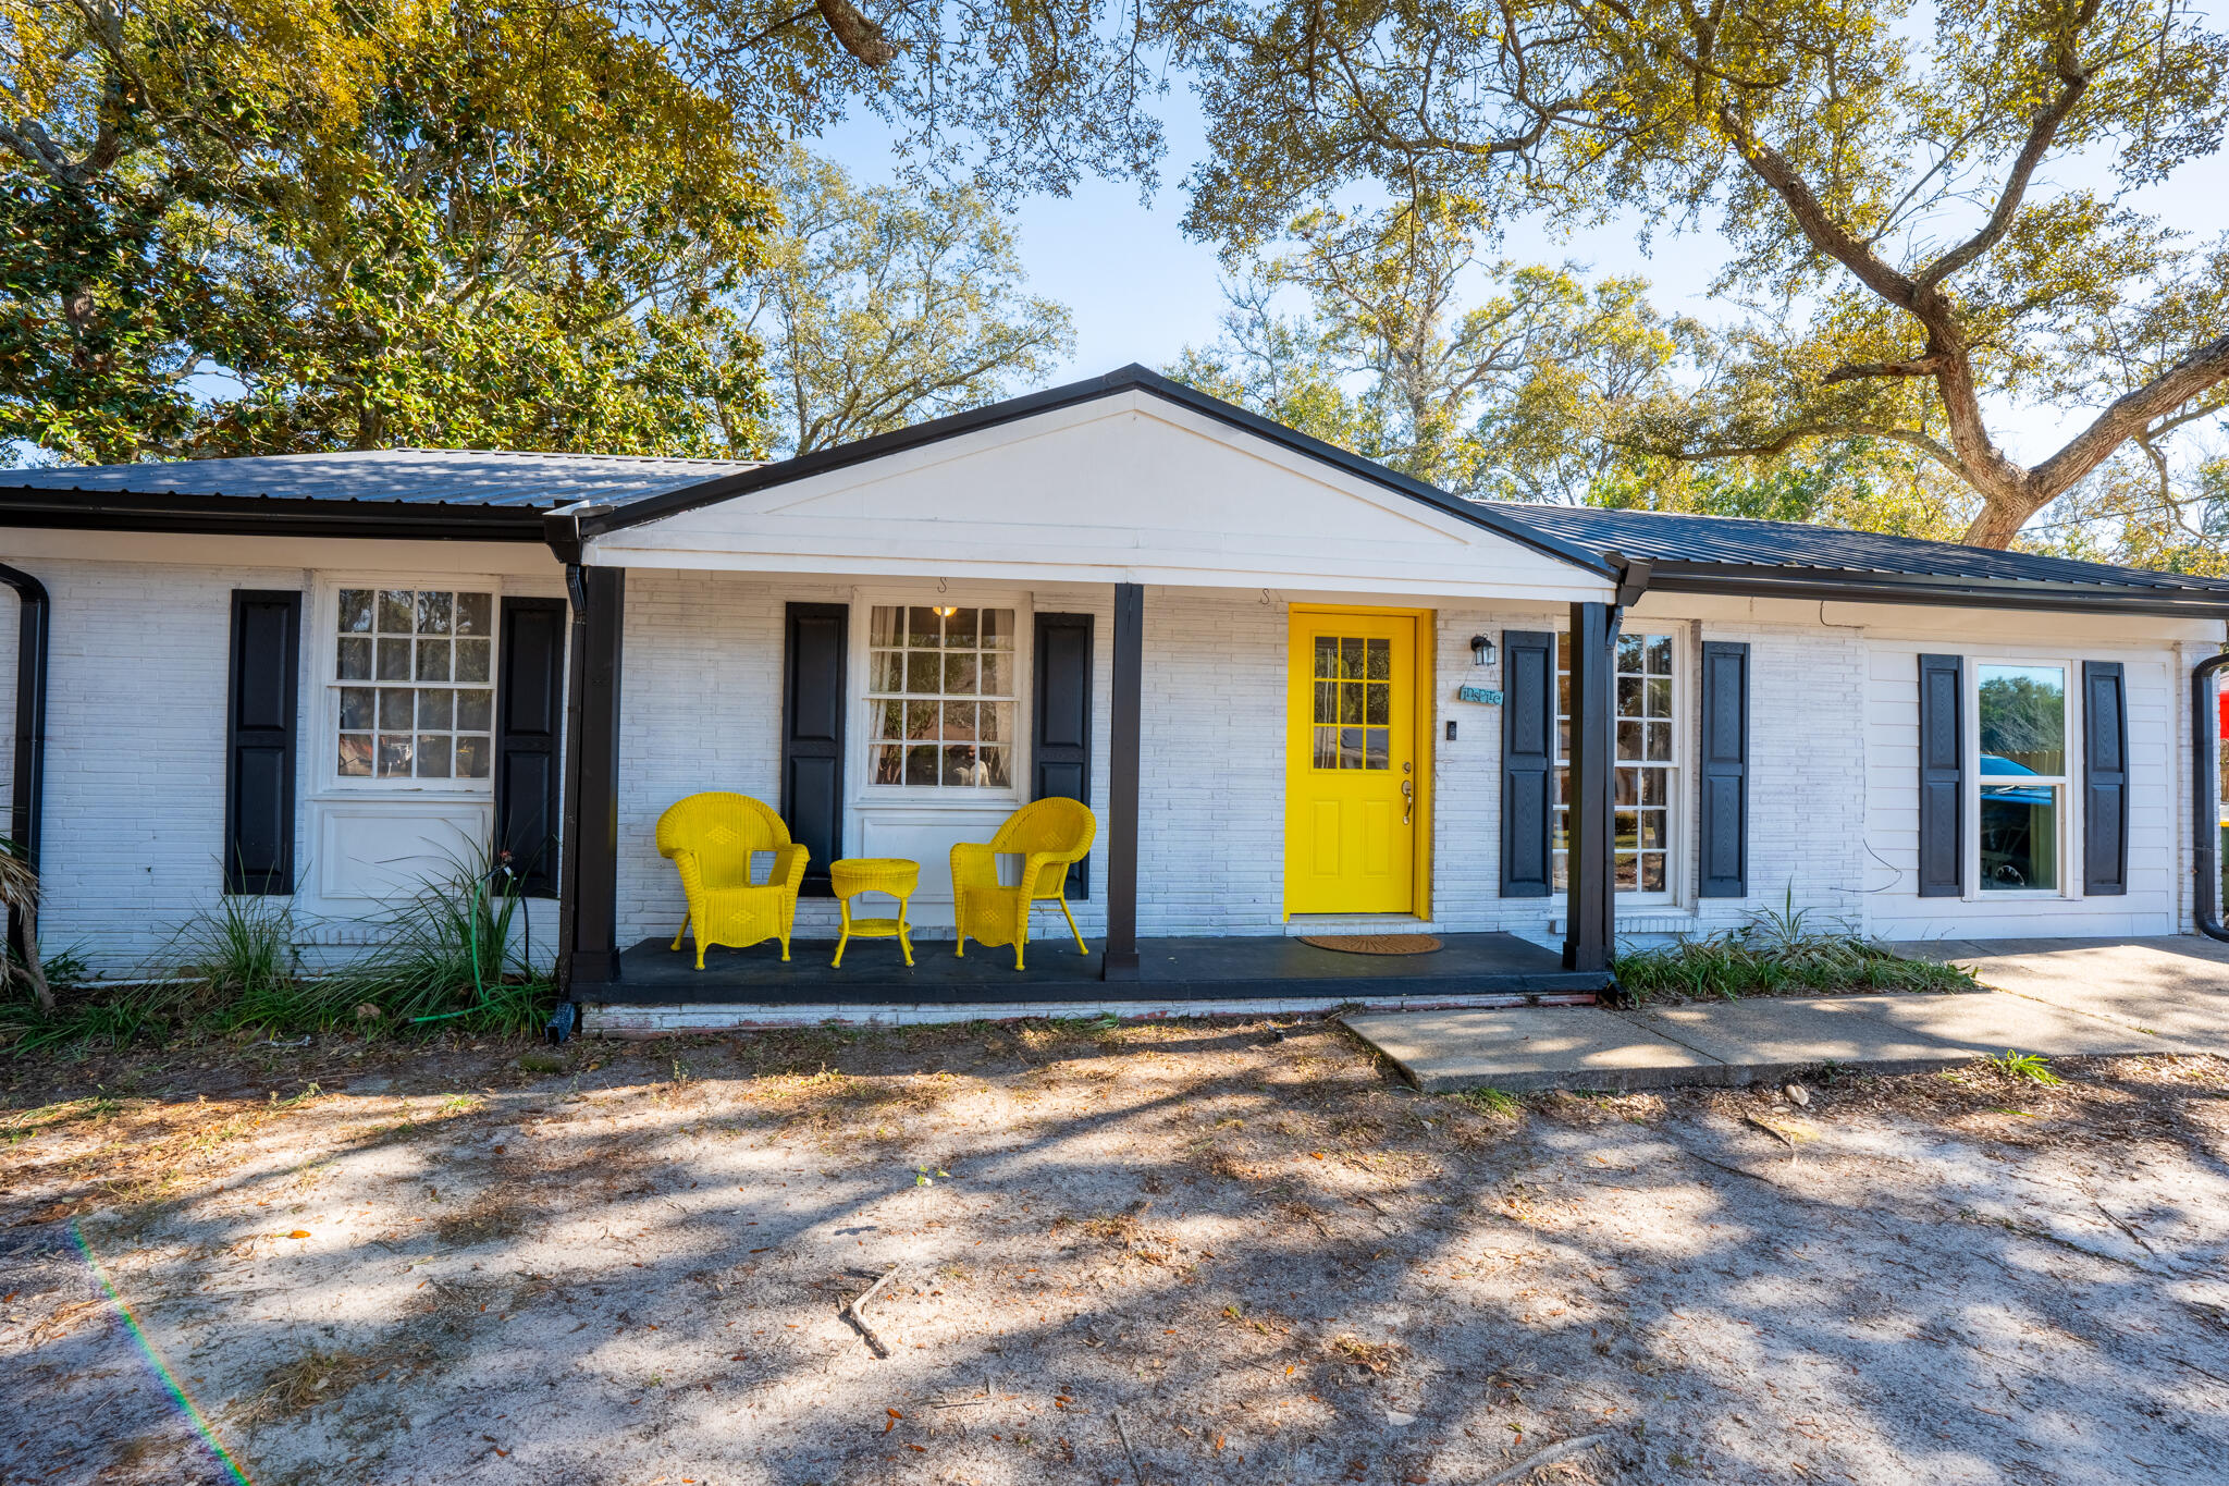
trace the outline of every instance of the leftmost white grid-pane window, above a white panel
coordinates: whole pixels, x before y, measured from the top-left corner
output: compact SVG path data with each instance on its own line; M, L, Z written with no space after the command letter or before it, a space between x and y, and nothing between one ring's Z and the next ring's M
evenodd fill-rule
M484 784L495 755L495 595L341 588L334 622L339 775Z

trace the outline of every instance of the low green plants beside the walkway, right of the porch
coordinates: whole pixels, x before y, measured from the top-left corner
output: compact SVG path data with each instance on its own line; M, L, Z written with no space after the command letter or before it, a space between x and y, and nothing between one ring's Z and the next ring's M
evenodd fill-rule
M1841 929L1821 929L1794 896L1750 922L1710 938L1683 938L1665 949L1620 954L1612 971L1636 1005L1721 996L1790 996L1808 991L1970 991L1973 974L1957 965L1901 960Z

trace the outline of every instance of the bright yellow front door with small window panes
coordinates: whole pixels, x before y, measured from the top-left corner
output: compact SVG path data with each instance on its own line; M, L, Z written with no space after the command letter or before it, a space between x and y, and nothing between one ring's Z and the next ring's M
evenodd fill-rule
M1293 613L1286 913L1415 911L1413 615Z

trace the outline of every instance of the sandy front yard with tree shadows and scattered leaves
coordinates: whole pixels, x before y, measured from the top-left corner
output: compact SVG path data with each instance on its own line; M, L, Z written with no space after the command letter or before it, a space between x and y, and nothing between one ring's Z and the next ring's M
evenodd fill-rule
M0 1479L234 1479L189 1408L265 1486L2229 1459L2222 1060L1498 1109L1297 1020L519 1052L0 1067Z

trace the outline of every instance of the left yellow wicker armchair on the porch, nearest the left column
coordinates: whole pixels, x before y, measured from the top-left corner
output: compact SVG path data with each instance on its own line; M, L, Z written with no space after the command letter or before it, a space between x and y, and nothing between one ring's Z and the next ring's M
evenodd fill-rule
M751 853L773 853L773 876L751 882ZM805 847L789 840L789 827L749 795L689 795L658 818L658 856L682 873L689 918L673 947L695 929L698 969L704 949L747 949L760 940L782 940L789 958L789 927L798 918L798 884L805 882Z

